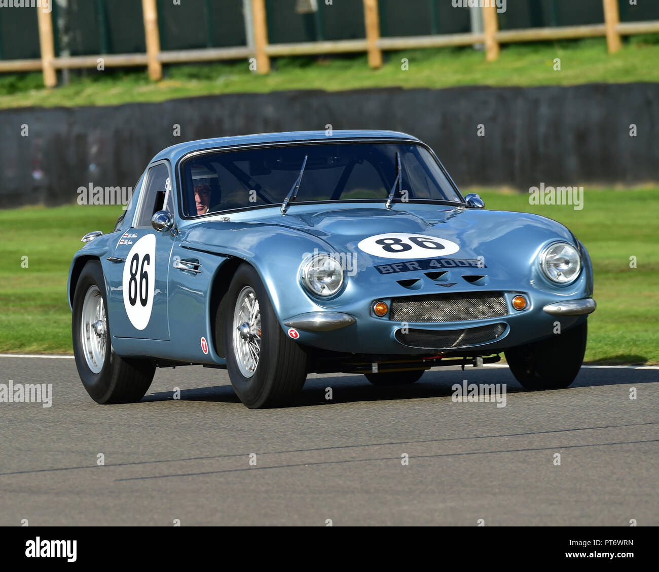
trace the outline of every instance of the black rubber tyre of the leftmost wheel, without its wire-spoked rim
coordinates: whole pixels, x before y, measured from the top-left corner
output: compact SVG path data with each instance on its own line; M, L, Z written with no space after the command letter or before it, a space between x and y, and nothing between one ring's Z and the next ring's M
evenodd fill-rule
M105 321L105 355L103 365L94 373L88 365L82 342L82 306L87 292L98 288L107 315L105 278L99 261L86 263L78 278L73 296L71 330L73 353L82 385L97 403L134 403L140 401L149 389L156 371L156 364L149 359L124 359L115 353L111 344L109 317ZM94 292L94 290L92 290Z

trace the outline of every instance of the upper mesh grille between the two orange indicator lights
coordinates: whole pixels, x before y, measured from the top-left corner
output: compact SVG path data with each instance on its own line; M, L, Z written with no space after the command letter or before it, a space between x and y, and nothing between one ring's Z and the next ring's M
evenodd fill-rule
M389 319L397 322L462 322L508 314L501 292L406 296L391 300Z

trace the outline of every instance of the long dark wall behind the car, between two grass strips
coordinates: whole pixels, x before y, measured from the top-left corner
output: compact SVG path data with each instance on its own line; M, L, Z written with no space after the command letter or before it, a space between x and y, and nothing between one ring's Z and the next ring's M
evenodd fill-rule
M72 202L90 183L133 186L160 149L185 140L327 124L418 136L458 186L659 180L659 84L283 91L0 111L0 207Z

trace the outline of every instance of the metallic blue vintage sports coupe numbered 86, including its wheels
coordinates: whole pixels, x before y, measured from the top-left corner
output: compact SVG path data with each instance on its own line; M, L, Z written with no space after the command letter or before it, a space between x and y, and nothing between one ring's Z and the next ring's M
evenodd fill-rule
M409 384L500 359L563 388L594 311L588 253L562 224L463 197L413 136L291 132L181 143L148 165L69 271L82 384L136 402L156 367L228 370L250 408L310 372Z

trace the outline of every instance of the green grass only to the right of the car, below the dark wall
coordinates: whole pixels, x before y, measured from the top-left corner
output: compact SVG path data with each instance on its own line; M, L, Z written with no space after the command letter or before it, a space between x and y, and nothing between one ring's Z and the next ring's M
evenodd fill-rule
M475 192L478 192L476 190ZM482 192L486 208L562 222L588 249L597 310L588 319L587 361L659 363L659 190L585 188L584 207L529 205L528 194ZM637 267L630 268L635 256Z

